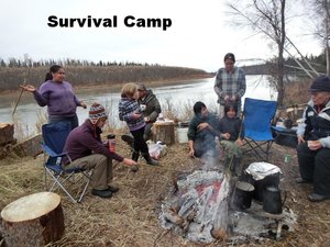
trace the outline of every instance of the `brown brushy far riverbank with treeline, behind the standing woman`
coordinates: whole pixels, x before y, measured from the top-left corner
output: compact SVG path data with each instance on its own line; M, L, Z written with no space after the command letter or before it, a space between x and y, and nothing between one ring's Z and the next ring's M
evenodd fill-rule
M36 87L44 81L45 75L54 64L65 68L66 80L74 86L114 85L129 81L156 81L169 79L188 79L208 77L201 69L147 65L136 63L102 63L79 61L66 59L58 60L15 60L15 66L0 67L0 90L16 90L24 81ZM30 64L29 64L30 63Z

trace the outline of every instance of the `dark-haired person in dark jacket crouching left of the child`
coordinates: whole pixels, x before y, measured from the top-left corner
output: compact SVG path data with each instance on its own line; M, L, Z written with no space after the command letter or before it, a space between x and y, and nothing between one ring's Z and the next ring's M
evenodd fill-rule
M188 144L190 157L216 156L215 137L219 135L217 126L219 120L209 113L205 103L198 101L194 105L194 113L188 127Z

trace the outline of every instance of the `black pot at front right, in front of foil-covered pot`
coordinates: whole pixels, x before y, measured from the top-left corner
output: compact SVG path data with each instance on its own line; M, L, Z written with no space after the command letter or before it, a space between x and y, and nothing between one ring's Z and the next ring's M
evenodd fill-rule
M282 201L278 187L266 187L263 190L263 210L271 214L280 214L286 200L286 194Z

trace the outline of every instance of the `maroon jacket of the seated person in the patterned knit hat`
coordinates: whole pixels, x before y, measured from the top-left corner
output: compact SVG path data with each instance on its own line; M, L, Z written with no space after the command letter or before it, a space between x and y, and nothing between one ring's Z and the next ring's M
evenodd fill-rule
M95 128L90 121L86 120L84 124L70 132L66 139L64 151L68 153L68 156L73 161L91 155L94 151L121 162L123 157L110 151L108 147L102 144L101 133L102 131L99 127ZM66 157L63 161L64 164L68 164L68 159Z

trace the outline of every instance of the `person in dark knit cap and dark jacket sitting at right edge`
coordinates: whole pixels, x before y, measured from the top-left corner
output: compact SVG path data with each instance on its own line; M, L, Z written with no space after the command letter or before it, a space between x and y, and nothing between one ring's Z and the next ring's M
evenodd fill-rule
M304 114L298 126L298 183L312 183L312 202L330 199L330 78L320 76L312 81Z

